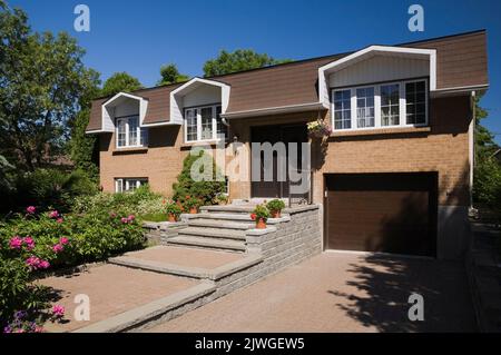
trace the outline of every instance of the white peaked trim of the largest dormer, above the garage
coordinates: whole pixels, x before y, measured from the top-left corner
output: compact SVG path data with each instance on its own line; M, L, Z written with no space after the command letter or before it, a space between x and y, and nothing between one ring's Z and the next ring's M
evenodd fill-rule
M430 62L430 91L436 90L436 50L435 49L419 49L407 47L390 47L390 46L370 46L358 50L350 56L343 57L338 60L330 62L318 68L318 97L321 102L330 102L328 90L328 75L342 70L346 67L353 66L362 60L369 59L376 55L390 55L409 58L428 58Z

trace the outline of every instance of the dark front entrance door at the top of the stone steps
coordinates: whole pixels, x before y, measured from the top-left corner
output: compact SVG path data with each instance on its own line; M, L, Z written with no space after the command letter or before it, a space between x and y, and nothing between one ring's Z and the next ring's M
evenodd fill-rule
M276 197L284 198L288 197L288 164L292 164L293 167L301 168L302 167L302 142L307 142L307 130L306 124L299 125L282 125L282 126L257 126L252 127L250 129L250 141L252 142L269 142L275 145L276 142L284 142L286 146L286 180L279 181L278 179L278 158L277 152L273 152L273 181L264 181L264 174L266 171L266 167L264 165L264 154L261 156L261 166L255 167L252 166L252 169L259 168L261 180L252 181L252 197ZM288 151L288 142L297 142L298 144L298 152L296 157L289 157Z

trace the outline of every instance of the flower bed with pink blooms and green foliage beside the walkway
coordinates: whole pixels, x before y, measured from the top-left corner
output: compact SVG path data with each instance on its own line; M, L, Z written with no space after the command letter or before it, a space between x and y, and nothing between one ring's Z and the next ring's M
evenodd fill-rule
M60 215L57 210L26 214L0 224L0 324L4 332L39 332L63 309L49 309L49 292L32 280L49 268L104 259L139 248L145 237L140 220L126 210L96 207ZM19 313L21 312L21 313ZM22 315L22 316L21 316Z

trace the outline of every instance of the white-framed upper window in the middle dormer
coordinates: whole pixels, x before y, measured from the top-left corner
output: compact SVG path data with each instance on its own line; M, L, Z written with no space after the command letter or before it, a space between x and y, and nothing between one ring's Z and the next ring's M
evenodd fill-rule
M227 127L220 118L220 106L185 109L185 141L216 140L227 137Z

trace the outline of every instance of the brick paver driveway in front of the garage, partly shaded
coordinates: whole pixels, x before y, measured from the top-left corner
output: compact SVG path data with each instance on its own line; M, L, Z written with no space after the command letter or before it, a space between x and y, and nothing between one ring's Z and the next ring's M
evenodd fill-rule
M424 322L410 322L411 293ZM471 332L462 264L324 253L153 332Z

